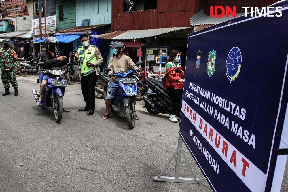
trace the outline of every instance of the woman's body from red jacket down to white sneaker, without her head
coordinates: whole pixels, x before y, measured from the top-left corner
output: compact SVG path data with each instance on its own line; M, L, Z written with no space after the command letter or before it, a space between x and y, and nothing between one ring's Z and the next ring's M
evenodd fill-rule
M174 69L181 69L180 73L176 73ZM183 94L183 86L184 86L184 67L170 67L166 71L166 75L164 77L164 89L168 90L171 95L173 96L173 108L172 114L169 119L172 122L177 122L178 119L176 115L180 113L180 104L182 101L182 94Z

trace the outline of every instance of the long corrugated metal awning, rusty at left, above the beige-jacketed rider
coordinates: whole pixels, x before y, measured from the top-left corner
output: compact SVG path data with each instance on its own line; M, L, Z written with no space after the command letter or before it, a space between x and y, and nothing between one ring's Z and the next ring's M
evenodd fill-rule
M101 35L91 35L91 37L101 38L101 39L118 39L118 40L128 40L128 39L141 39L147 37L154 37L162 35L164 33L169 33L173 31L186 31L191 29L191 27L169 27L169 28L158 28L158 29L144 29L144 30L129 30L129 31L115 31L111 33L105 33Z

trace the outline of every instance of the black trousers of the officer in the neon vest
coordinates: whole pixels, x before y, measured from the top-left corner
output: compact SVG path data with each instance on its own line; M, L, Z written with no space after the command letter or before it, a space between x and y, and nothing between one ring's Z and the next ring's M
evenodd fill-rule
M86 103L85 108L92 111L95 110L95 86L97 79L98 75L96 71L81 78L81 91Z

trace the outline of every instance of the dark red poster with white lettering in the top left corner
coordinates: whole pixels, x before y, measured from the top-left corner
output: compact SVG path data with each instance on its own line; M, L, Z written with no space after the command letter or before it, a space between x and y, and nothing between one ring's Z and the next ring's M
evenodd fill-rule
M3 19L29 16L26 0L1 1L0 11Z

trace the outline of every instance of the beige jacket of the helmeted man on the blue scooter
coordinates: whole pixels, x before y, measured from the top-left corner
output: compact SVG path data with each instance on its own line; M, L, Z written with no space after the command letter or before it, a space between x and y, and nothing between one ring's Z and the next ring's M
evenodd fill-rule
M116 56L111 57L108 63L108 68L112 69L113 71L109 71L108 75L113 74L113 73L118 73L119 71L122 70L127 70L127 69L139 69L135 63L132 61L130 57L127 55L122 55L119 58ZM114 79L113 79L114 80Z

